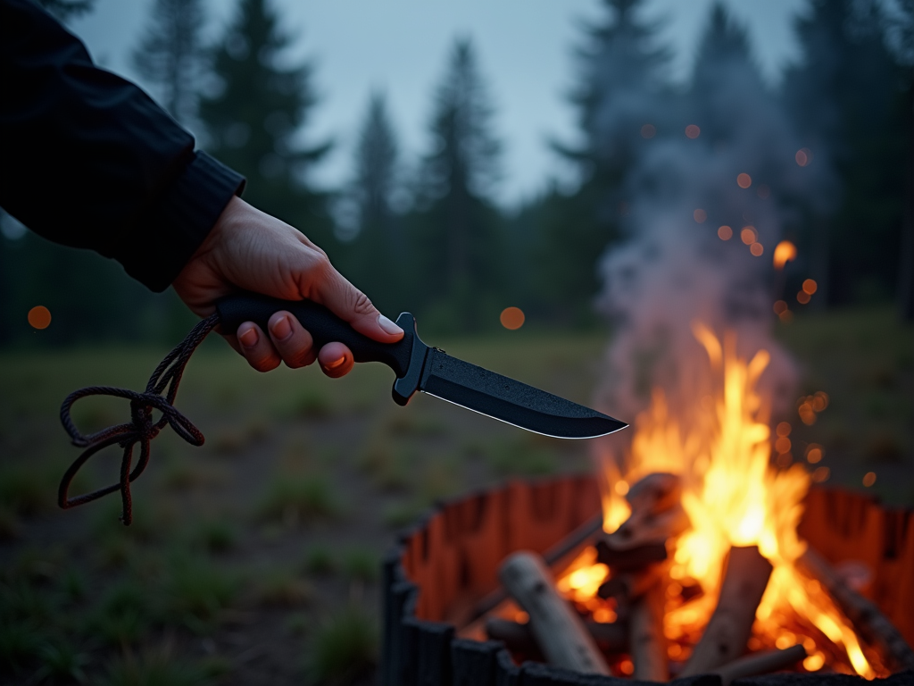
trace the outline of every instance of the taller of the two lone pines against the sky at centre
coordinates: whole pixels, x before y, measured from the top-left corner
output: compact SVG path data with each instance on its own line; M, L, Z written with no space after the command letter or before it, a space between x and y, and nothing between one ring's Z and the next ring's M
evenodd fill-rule
M482 326L497 306L504 266L492 201L501 149L492 117L473 45L458 39L435 94L431 149L420 170L425 211L417 246L424 287L443 307L441 319L469 327Z

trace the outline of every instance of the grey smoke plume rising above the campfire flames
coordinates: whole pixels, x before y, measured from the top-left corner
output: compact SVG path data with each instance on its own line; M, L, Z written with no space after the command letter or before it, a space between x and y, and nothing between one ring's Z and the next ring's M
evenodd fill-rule
M772 413L785 413L795 397L797 366L772 336L772 305L781 294L774 293L771 256L785 226L801 219L800 207L827 205L832 181L824 165L800 166L805 143L760 80L744 34L717 20L691 90L668 96L654 120L643 122L655 134L638 141L624 183L629 238L600 262L598 308L613 338L595 402L630 423L655 388L683 424L707 415L701 401L713 381L692 332L696 321L718 338L734 332L740 357L771 353L759 389ZM687 135L687 125L700 132ZM728 240L720 227L729 227ZM760 254L742 240L743 230ZM618 456L628 434L605 439L600 452Z

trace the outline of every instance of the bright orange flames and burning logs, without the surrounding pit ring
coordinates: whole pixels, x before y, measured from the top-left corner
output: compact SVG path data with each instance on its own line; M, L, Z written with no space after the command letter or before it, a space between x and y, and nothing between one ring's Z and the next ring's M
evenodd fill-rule
M624 473L611 460L602 470L605 535L558 575L580 616L630 626L630 655L608 656L602 671L665 681L742 659L750 673L886 676L797 535L809 474L771 464L769 403L756 390L768 353L741 359L734 335L693 330L715 380L707 421L680 426L654 392Z

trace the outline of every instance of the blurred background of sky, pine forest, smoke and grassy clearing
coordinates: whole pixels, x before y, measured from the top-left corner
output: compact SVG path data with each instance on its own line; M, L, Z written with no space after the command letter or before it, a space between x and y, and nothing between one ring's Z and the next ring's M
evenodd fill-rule
M733 328L783 381L772 459L914 504L910 0L41 4L429 344L631 421L689 364L679 319ZM394 531L591 468L400 410L385 370L260 376L212 340L177 402L207 445L156 440L130 529L117 502L58 512L59 402L141 387L194 316L0 230L0 683L370 683Z

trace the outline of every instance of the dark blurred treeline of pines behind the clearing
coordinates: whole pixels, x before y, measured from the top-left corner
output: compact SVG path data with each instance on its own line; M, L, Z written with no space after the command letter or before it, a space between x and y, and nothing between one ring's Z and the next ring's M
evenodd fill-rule
M51 2L60 12L88 6ZM574 145L552 144L579 182L565 188L544 179L542 192L515 209L494 199L502 145L470 38L455 40L445 56L424 154L403 155L388 95L367 94L355 148L335 151L352 155L350 179L332 190L312 181L335 147L311 134L320 106L313 67L290 65L290 39L273 4L239 0L213 46L203 39L201 0L156 0L133 63L203 148L248 177L247 200L321 245L383 311L409 309L423 330L468 332L497 327L507 305L524 309L534 326L590 325L600 256L636 230L627 211L638 192L630 173L644 142L658 127L685 135L696 123L713 140L739 126L728 121L728 103L744 95L716 91L708 68L737 59L749 65L747 88L765 90L789 113L813 164L829 167L827 202L792 197L787 184L772 198L790 209L785 232L800 247L795 278L813 275L827 294L821 304L896 297L910 316L909 4L887 13L876 0L810 0L796 20L802 58L777 91L764 85L745 28L723 5L707 19L696 73L685 90L675 85L671 53L642 8L641 0L604 0L602 16L579 39L569 98L579 135ZM8 216L3 229L4 344L165 342L192 321L174 295L145 292L117 264L51 245ZM27 325L34 305L53 317L40 337Z

